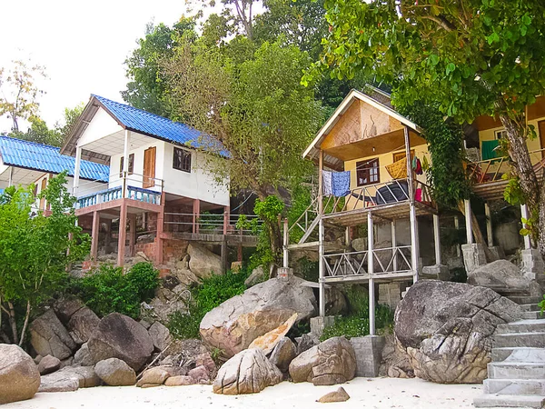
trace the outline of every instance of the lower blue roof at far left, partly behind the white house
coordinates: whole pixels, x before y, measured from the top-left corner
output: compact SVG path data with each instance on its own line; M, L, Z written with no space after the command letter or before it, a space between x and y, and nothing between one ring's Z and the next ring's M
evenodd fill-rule
M68 175L74 176L75 158L61 155L59 150L60 148L55 146L0 136L0 156L5 165L52 174L67 171ZM109 175L109 166L82 160L80 168L82 179L108 182Z

